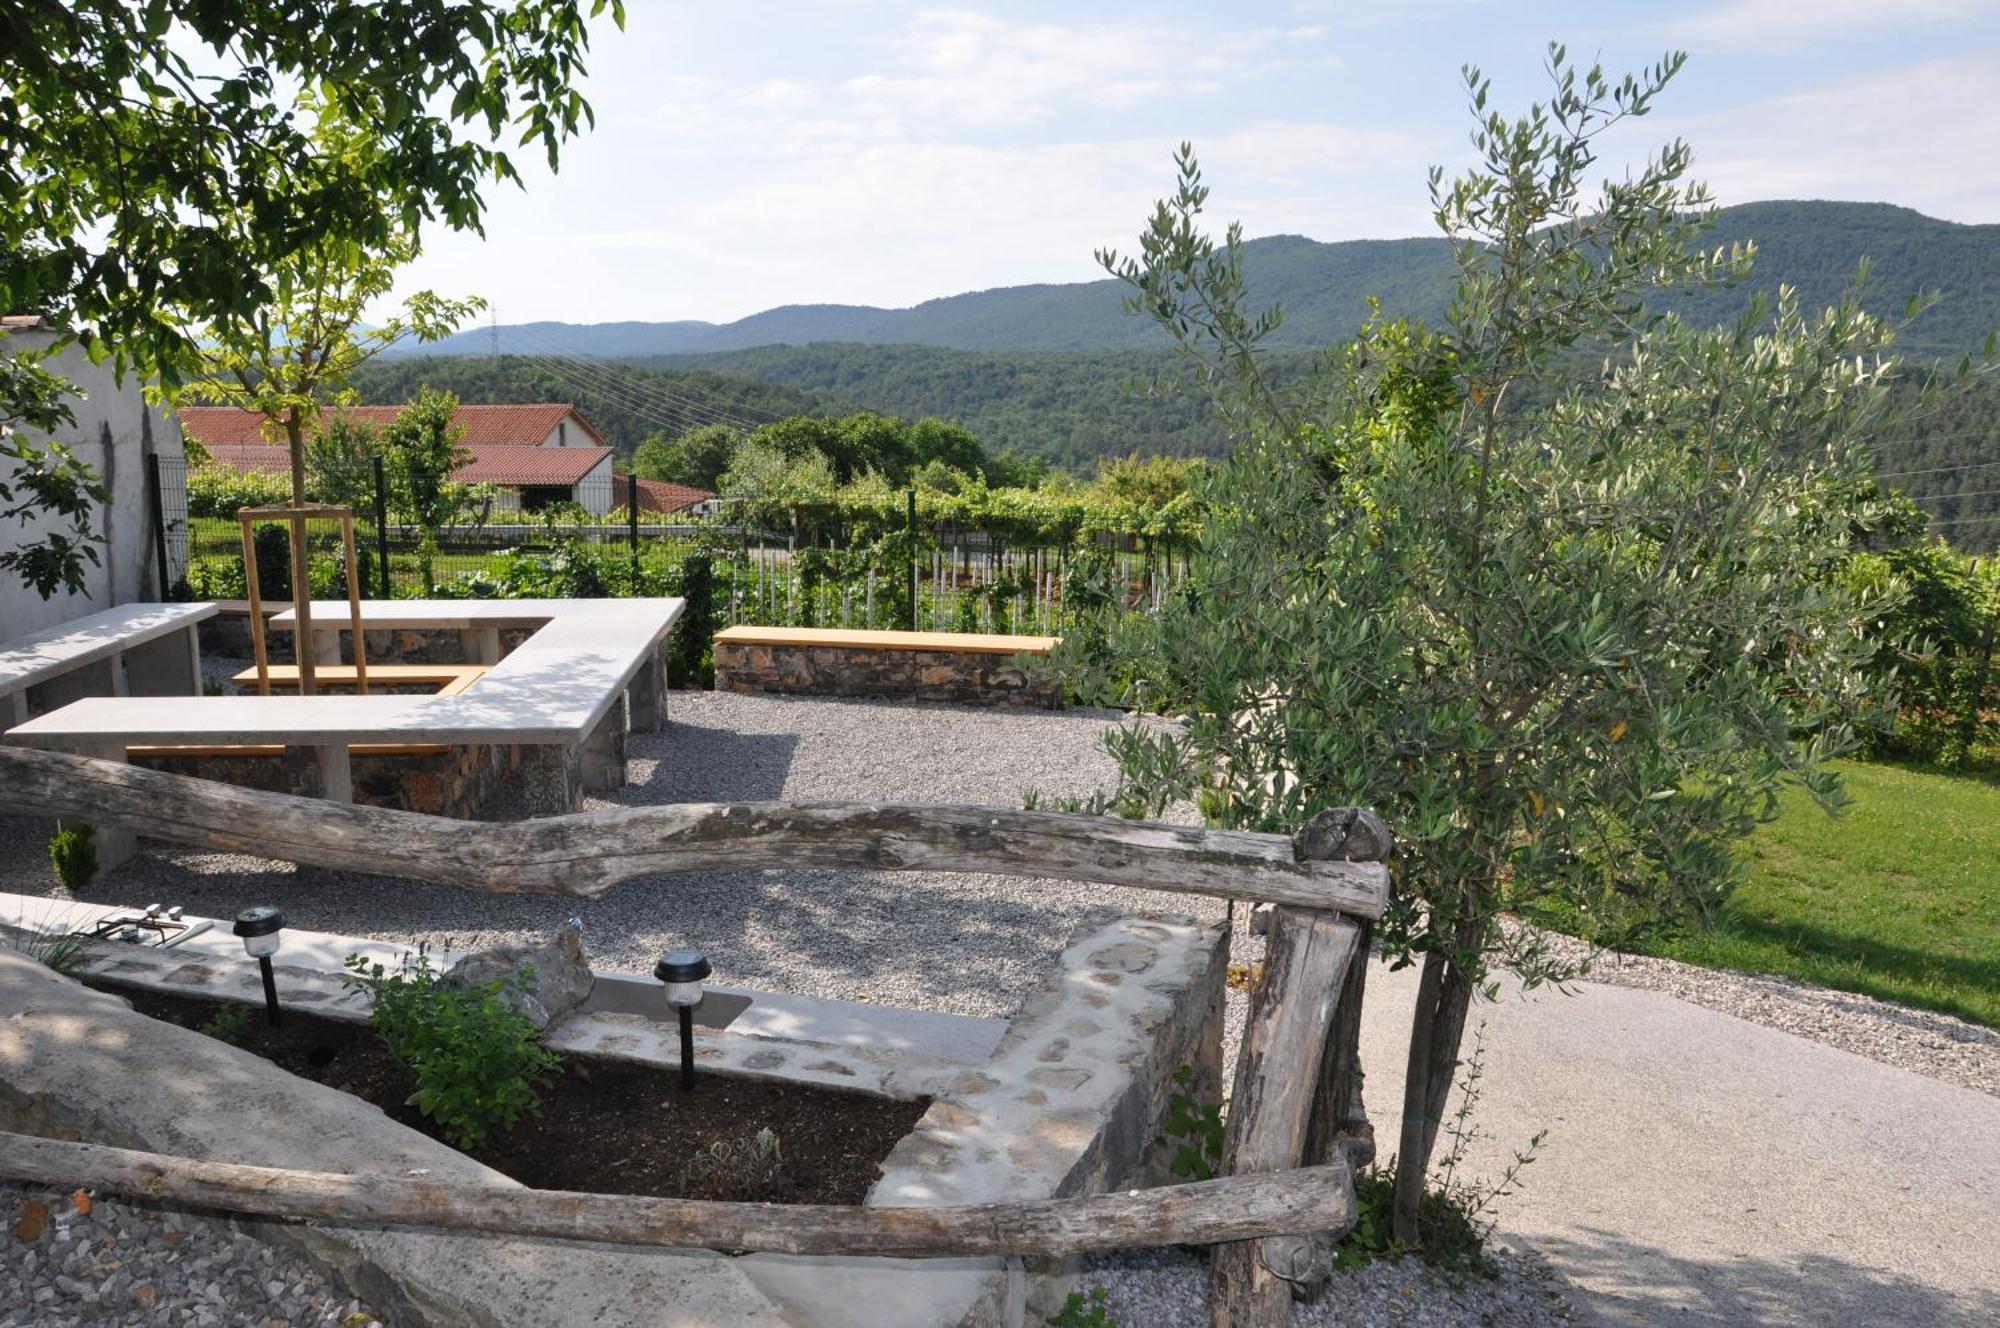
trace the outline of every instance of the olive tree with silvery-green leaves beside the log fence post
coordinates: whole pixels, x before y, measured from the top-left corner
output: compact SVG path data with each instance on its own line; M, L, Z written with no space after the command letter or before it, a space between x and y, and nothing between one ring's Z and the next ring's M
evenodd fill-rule
M1396 1236L1418 1246L1466 1014L1500 970L1574 976L1526 902L1638 892L1704 914L1780 786L1824 806L1872 712L1862 604L1822 576L1848 540L1828 492L1866 468L1892 328L1784 294L1734 326L1652 316L1652 292L1742 276L1672 142L1590 188L1602 132L1670 56L1612 82L1550 52L1552 96L1508 118L1466 70L1478 166L1432 172L1458 264L1440 328L1380 316L1300 382L1262 356L1238 230L1200 230L1192 150L1128 306L1190 356L1234 450L1196 472L1202 554L1164 610L1114 630L1122 676L1184 716L1110 744L1126 806L1194 798L1298 830L1366 804L1396 836L1376 940L1420 966L1396 1144ZM1582 388L1558 368L1602 356ZM1102 660L1102 654L1092 658ZM1112 682L1080 666L1088 692Z

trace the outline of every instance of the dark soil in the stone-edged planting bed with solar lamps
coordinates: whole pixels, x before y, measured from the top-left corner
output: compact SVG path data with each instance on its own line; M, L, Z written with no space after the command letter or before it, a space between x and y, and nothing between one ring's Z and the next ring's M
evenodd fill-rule
M228 1004L114 990L140 1014L186 1028L202 1028ZM262 1008L252 1014L238 1046L442 1142L406 1104L416 1076L368 1024L286 1010L284 1024L270 1028ZM926 1106L722 1074L702 1074L692 1092L680 1092L678 1070L564 1056L562 1076L542 1092L542 1114L468 1156L536 1190L860 1204L882 1158ZM760 1130L778 1136L776 1162L758 1146Z

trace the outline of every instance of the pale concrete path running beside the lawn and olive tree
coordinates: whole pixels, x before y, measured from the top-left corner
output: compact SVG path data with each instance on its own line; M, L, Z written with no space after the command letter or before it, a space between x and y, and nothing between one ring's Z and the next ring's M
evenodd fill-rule
M1414 968L1368 976L1384 1160L1414 994ZM1636 988L1510 992L1480 1018L1470 1170L1548 1130L1500 1236L1602 1322L2000 1324L2000 1098Z

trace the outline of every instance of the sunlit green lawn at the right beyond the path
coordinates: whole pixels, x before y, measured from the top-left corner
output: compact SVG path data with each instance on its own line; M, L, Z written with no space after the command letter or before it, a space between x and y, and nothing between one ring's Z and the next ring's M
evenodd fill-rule
M2000 782L1846 762L1838 818L1790 796L1712 932L1652 954L1770 972L2000 1028Z

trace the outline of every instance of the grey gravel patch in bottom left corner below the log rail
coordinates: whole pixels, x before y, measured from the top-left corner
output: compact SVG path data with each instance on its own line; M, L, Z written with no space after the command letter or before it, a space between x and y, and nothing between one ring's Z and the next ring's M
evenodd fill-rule
M0 1328L362 1328L376 1318L304 1256L220 1218L0 1182Z

